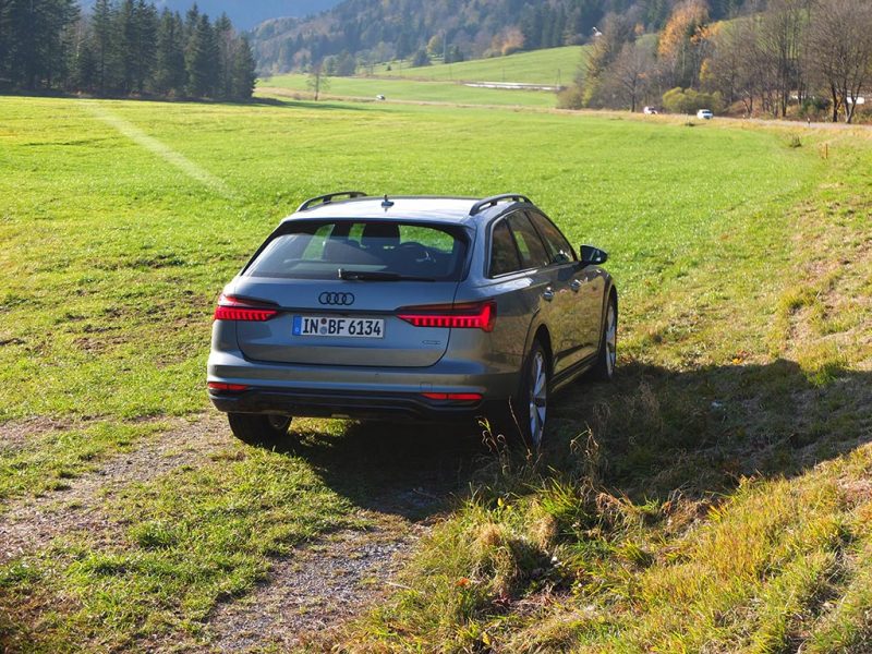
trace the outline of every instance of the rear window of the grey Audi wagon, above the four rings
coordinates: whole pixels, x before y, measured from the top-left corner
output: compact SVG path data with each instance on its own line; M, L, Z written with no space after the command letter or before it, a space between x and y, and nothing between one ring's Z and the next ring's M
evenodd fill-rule
M244 270L249 277L336 279L339 270L457 281L467 257L461 228L385 220L291 221Z

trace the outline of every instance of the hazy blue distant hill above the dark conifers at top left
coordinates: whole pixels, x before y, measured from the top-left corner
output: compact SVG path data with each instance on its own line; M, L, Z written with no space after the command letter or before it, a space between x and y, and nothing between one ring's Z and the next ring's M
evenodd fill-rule
M158 8L167 7L181 13L191 9L194 0L155 0ZM233 25L240 29L252 29L267 19L294 16L304 19L312 14L331 9L339 0L198 0L197 7L210 17L227 13ZM93 0L84 0L81 4L87 9Z

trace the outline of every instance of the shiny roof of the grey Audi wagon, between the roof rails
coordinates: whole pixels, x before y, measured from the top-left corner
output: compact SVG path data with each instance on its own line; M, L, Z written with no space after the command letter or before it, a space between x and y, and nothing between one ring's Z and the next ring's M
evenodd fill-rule
M380 220L410 220L426 222L453 222L461 225L486 220L495 214L502 213L510 204L501 202L482 208L474 216L470 215L479 197L444 197L400 195L390 196L390 206L384 206L384 196L355 197L340 202L327 202L302 211L295 211L282 220L303 220L312 218L370 218Z

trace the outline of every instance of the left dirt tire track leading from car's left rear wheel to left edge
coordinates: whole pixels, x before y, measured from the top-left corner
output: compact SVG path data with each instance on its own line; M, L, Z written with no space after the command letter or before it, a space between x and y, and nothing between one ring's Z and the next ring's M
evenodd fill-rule
M204 414L195 422L180 419L173 428L144 439L138 448L108 458L99 470L69 480L65 491L11 502L0 517L0 565L70 532L113 533L116 525L102 510L107 495L179 467L205 462L228 443L227 423L220 416Z

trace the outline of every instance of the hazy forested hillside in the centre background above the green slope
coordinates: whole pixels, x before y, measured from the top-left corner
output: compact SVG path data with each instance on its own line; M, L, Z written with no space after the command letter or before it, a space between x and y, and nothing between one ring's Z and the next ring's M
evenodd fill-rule
M258 69L304 69L343 52L387 61L416 52L449 60L586 43L609 13L642 29L666 24L679 0L346 0L307 21L276 20L254 31ZM717 20L750 0L711 0ZM425 63L424 58L420 58Z

